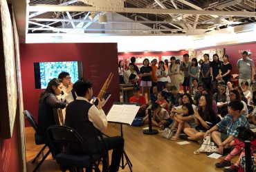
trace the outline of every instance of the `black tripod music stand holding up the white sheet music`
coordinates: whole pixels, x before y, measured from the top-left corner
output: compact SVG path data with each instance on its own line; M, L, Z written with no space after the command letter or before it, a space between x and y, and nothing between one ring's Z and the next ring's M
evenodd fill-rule
M139 104L138 104L138 103L120 103L120 102L114 102L113 105L136 105L136 106L138 106ZM112 105L112 107L113 107L113 105ZM112 108L112 107L111 107L111 108ZM111 111L111 110L109 110L109 111ZM137 111L137 112L138 112L138 111ZM108 113L108 114L109 114L109 113ZM127 125L127 123L124 123L124 122L113 122L113 121L109 121L109 122L111 122L111 123L116 123L116 124L120 124L120 136L123 138L124 134L123 134L123 131L122 131L122 125ZM105 135L105 134L104 134L104 135ZM107 135L105 135L105 136L107 136ZM107 136L107 137L109 137L109 136ZM126 160L126 162L125 162L125 160ZM132 166L131 160L129 160L129 157L128 157L127 153L125 152L125 148L124 148L123 153L122 153L122 157L121 157L121 165L120 165L120 167L121 167L122 169L125 169L125 166L126 166L126 165L129 166L129 169L130 169L130 171L132 172L132 169L131 169L131 166Z

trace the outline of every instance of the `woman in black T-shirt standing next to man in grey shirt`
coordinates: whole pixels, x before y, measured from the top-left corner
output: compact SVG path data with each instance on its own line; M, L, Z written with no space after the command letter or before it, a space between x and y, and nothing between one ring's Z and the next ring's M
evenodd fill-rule
M223 60L223 65L222 65L219 73L220 73L220 77L225 81L225 83L227 83L228 80L230 80L230 78L231 78L230 72L232 70L232 65L228 61L227 54L223 55L222 60Z

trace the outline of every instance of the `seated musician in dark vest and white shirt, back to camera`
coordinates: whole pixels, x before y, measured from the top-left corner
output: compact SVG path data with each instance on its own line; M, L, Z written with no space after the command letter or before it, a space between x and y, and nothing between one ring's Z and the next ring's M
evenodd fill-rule
M91 153L100 153L103 149L103 142L100 139L102 131L107 129L107 117L102 110L104 100L99 100L98 107L91 105L89 100L93 95L92 83L86 78L77 80L73 85L77 94L76 100L66 107L65 125L75 129L84 140L87 141ZM124 147L124 139L120 136L103 138L107 144L107 150L113 149L110 172L119 169L120 160ZM68 147L69 151L86 153L81 147Z

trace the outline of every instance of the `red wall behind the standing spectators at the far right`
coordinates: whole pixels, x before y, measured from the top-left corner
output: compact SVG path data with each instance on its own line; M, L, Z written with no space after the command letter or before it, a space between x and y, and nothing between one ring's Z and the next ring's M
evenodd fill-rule
M241 58L241 52L250 51L252 52L252 58L256 65L256 43L243 43L237 45L222 45L215 47L207 47L199 50L209 50L215 48L225 48L225 54L228 54L228 59L232 64L232 74L237 74L237 61Z

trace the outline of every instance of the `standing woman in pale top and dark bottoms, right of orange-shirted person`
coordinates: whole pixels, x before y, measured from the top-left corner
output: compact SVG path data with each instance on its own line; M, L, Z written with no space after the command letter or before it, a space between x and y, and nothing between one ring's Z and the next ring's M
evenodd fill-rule
M161 92L163 88L165 88L167 83L167 74L168 71L165 69L163 61L159 61L158 69L156 70L158 92Z

